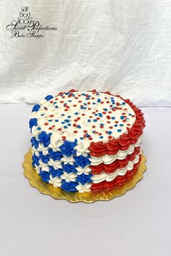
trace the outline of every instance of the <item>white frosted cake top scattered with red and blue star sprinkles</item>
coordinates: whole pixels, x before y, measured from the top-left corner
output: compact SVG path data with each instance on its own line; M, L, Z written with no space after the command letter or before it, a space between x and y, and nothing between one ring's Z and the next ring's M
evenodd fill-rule
M38 120L34 133L37 135L37 128L52 133L54 147L57 143L60 146L57 139L78 139L88 141L88 144L117 139L135 122L135 112L122 99L89 91L70 92L49 101L43 100L40 109L31 117ZM84 150L85 146L80 144L78 152L86 154Z

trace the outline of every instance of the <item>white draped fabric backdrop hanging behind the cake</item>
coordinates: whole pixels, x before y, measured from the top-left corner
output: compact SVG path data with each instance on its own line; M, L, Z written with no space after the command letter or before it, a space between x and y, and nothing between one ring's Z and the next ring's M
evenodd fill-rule
M12 38L21 7L43 38ZM1 0L0 102L37 102L69 88L171 106L170 0Z

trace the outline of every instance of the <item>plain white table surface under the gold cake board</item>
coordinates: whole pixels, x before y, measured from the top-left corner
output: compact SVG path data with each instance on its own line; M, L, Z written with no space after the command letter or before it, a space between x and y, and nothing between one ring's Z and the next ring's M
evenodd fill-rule
M31 108L0 105L1 255L171 255L171 108L143 108L143 180L122 197L89 205L52 199L23 176Z

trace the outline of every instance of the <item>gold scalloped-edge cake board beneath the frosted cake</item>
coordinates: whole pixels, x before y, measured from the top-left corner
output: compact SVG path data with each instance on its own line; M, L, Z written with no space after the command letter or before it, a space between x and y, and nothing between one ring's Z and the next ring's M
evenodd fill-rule
M78 193L78 192L65 192L62 189L54 188L53 185L41 181L41 177L38 176L36 170L32 165L32 153L31 149L25 154L25 161L23 162L24 175L28 178L31 186L38 189L42 194L48 194L54 199L66 199L69 202L96 202L99 200L110 200L114 197L120 197L125 194L126 191L133 189L143 178L143 173L146 171L146 157L142 152L142 160L140 162L138 172L133 175L131 180L126 181L123 186L118 187L112 191L101 191L93 194L92 192Z

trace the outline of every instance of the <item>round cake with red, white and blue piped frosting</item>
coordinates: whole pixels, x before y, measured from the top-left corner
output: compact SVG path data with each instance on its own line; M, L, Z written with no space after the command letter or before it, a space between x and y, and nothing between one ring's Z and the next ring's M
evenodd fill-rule
M96 90L48 95L29 125L33 168L55 189L112 191L138 171L145 120L129 99Z

